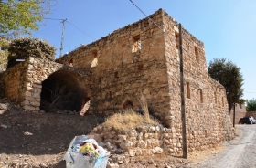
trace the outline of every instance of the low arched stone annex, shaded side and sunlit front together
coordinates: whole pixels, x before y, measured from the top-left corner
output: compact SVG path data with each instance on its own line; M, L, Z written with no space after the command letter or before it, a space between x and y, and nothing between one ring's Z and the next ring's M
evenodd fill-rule
M65 73L67 76L73 73L75 79L80 78L82 87L87 86L90 71L83 71L78 68L71 68L56 62L40 58L27 58L13 68L8 68L1 74L0 78L4 81L5 97L15 100L21 104L25 110L40 110L42 82L48 79L55 72ZM77 87L78 88L78 87ZM77 89L76 88L76 89ZM91 94L90 88L88 94Z

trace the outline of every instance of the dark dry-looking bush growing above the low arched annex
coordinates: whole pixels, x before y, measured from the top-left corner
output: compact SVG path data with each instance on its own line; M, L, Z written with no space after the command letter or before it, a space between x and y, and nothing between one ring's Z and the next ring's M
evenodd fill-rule
M8 47L7 68L15 66L16 59L28 57L43 58L53 61L56 48L48 44L48 41L32 37L19 37L13 40Z

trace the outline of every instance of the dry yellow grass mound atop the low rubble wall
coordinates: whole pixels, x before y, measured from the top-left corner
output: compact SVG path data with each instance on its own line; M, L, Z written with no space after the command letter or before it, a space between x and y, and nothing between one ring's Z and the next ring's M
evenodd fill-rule
M133 110L126 110L107 118L104 125L125 131L128 129L136 128L138 126L160 125L160 123L150 117L146 119L143 115L138 114Z

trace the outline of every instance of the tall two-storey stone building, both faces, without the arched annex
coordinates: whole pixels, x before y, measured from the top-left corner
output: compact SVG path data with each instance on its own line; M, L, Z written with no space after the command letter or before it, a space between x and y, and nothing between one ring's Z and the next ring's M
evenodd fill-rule
M57 61L91 69L93 112L125 109L127 102L137 110L140 105L136 97L142 90L151 112L180 137L178 25L162 9L150 17L163 30L143 19ZM234 131L225 89L208 75L203 43L184 28L182 37L188 150L193 151L205 143L229 140ZM138 38L140 49L134 52Z

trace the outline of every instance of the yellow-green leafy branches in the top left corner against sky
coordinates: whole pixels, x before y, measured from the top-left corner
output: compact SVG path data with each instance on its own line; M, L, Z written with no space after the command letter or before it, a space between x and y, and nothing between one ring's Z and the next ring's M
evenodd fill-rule
M52 0L0 0L0 37L31 34L51 6Z

